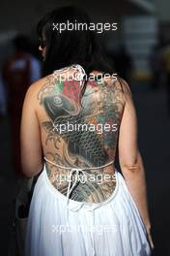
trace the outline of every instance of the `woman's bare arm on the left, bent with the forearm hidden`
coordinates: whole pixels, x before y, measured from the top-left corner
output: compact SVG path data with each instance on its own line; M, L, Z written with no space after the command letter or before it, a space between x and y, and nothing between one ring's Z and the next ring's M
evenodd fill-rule
M24 176L36 176L42 171L42 143L36 114L36 84L27 90L20 127L21 167Z

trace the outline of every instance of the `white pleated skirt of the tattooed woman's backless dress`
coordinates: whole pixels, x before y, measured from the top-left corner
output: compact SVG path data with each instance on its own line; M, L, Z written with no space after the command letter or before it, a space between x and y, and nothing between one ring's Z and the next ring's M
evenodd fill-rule
M116 169L115 169L116 170ZM45 165L36 183L26 229L25 256L148 256L144 223L124 177L104 203L69 200L50 183Z

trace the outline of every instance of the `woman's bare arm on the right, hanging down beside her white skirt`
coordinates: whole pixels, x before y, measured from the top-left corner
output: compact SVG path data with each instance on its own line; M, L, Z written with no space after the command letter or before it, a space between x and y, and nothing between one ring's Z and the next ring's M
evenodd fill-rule
M120 126L119 161L128 190L139 210L149 235L151 222L148 212L144 165L137 144L137 117L132 95L125 81L123 86L126 103ZM152 247L154 246L152 239L150 244Z

